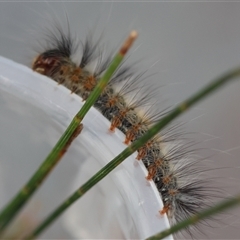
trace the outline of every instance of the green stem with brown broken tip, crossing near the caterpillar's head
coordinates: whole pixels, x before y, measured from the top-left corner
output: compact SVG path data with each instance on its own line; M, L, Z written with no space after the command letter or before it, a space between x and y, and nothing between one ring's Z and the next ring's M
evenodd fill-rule
M26 183L26 185L2 210L0 213L0 233L2 233L2 231L7 227L11 220L13 220L14 216L18 213L21 207L23 207L23 205L30 199L32 194L39 188L43 180L62 158L63 154L70 146L73 138L76 137L76 131L79 128L82 119L87 114L91 106L95 103L136 38L137 33L135 31L132 31L120 48L119 52L113 58L113 61L111 62L109 68L106 70L105 74L100 79L81 110L73 118L69 127L63 133L62 137L59 139L53 150L47 156L39 169L34 173L31 179Z

